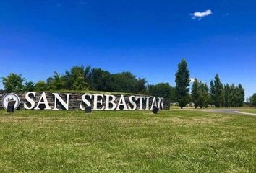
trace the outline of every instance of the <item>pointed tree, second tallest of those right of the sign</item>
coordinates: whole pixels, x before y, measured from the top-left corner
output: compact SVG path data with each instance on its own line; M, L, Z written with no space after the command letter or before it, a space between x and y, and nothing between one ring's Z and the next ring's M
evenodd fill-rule
M214 81L210 81L210 100L215 107L223 106L223 84L216 74Z

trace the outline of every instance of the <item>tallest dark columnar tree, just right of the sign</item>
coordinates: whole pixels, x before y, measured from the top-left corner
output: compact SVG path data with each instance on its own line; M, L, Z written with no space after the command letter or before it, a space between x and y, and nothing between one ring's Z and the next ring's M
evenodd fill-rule
M182 59L178 65L178 71L175 74L176 82L176 99L179 102L179 107L183 108L189 102L189 70L187 62Z

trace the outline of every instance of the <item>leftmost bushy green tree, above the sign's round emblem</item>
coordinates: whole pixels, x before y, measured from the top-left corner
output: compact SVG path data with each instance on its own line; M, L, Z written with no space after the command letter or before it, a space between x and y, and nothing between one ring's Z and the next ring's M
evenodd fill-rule
M23 81L25 81L25 79L22 78L21 74L11 73L11 74L9 74L9 76L2 78L4 89L6 89L7 92L20 92L20 91L22 91Z

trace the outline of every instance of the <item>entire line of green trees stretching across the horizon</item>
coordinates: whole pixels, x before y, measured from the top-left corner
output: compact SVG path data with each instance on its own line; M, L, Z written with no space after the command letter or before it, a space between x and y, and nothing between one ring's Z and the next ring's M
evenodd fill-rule
M61 91L61 90L92 90L103 92L126 92L135 94L150 94L164 97L176 102L183 108L189 103L194 107L242 107L244 104L244 89L241 84L222 84L216 74L210 81L210 86L198 79L190 80L187 61L182 59L175 74L176 86L169 83L148 84L145 78L137 78L129 71L111 74L101 68L90 66L74 66L64 74L54 72L46 81L26 81L20 74L9 74L2 82L7 92L21 91ZM256 94L250 97L255 103Z

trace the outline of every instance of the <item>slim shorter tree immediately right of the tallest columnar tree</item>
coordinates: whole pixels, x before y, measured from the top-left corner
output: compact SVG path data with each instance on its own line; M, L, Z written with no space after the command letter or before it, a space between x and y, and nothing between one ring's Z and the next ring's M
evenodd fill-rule
M200 89L199 82L197 79L192 84L192 89L191 89L191 97L192 97L192 102L195 105L195 109L199 105L202 105L202 90Z

